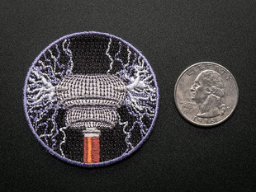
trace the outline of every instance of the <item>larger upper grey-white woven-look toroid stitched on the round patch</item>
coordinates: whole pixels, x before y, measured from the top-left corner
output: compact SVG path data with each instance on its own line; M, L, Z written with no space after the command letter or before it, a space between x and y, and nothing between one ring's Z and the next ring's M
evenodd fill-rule
M59 104L75 106L120 107L126 97L126 85L115 75L69 74L56 87Z

